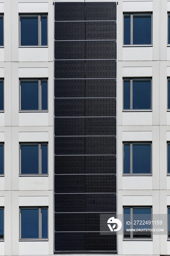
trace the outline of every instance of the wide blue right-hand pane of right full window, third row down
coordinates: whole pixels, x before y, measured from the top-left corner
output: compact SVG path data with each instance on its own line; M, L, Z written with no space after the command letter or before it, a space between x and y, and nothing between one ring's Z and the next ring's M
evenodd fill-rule
M133 173L151 173L151 144L133 144Z

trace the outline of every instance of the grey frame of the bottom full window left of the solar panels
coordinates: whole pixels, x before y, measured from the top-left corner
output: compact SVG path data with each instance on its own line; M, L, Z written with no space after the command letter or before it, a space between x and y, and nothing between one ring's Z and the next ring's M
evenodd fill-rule
M30 210L30 209L38 209L38 227L39 227L39 238L21 238L21 209ZM42 238L42 223L41 223L41 215L42 209L47 209L47 238ZM49 207L48 206L20 206L19 207L19 240L49 240Z

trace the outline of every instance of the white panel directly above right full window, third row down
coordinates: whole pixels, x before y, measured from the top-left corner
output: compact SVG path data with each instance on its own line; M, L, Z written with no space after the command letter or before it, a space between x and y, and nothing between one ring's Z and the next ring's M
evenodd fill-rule
M122 132L123 141L152 141L152 132Z

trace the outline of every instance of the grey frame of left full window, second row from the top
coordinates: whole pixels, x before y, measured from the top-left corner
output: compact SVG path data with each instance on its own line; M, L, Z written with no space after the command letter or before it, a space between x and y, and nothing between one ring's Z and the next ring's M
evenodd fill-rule
M38 109L21 109L21 82L35 82L38 81ZM41 109L41 82L47 81L47 109ZM20 78L19 79L19 111L20 112L48 112L49 111L49 79L48 78Z

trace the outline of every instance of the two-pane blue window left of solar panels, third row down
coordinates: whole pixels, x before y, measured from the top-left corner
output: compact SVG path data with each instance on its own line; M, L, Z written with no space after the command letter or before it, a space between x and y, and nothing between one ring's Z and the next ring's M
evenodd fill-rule
M48 173L48 144L20 143L20 173Z

